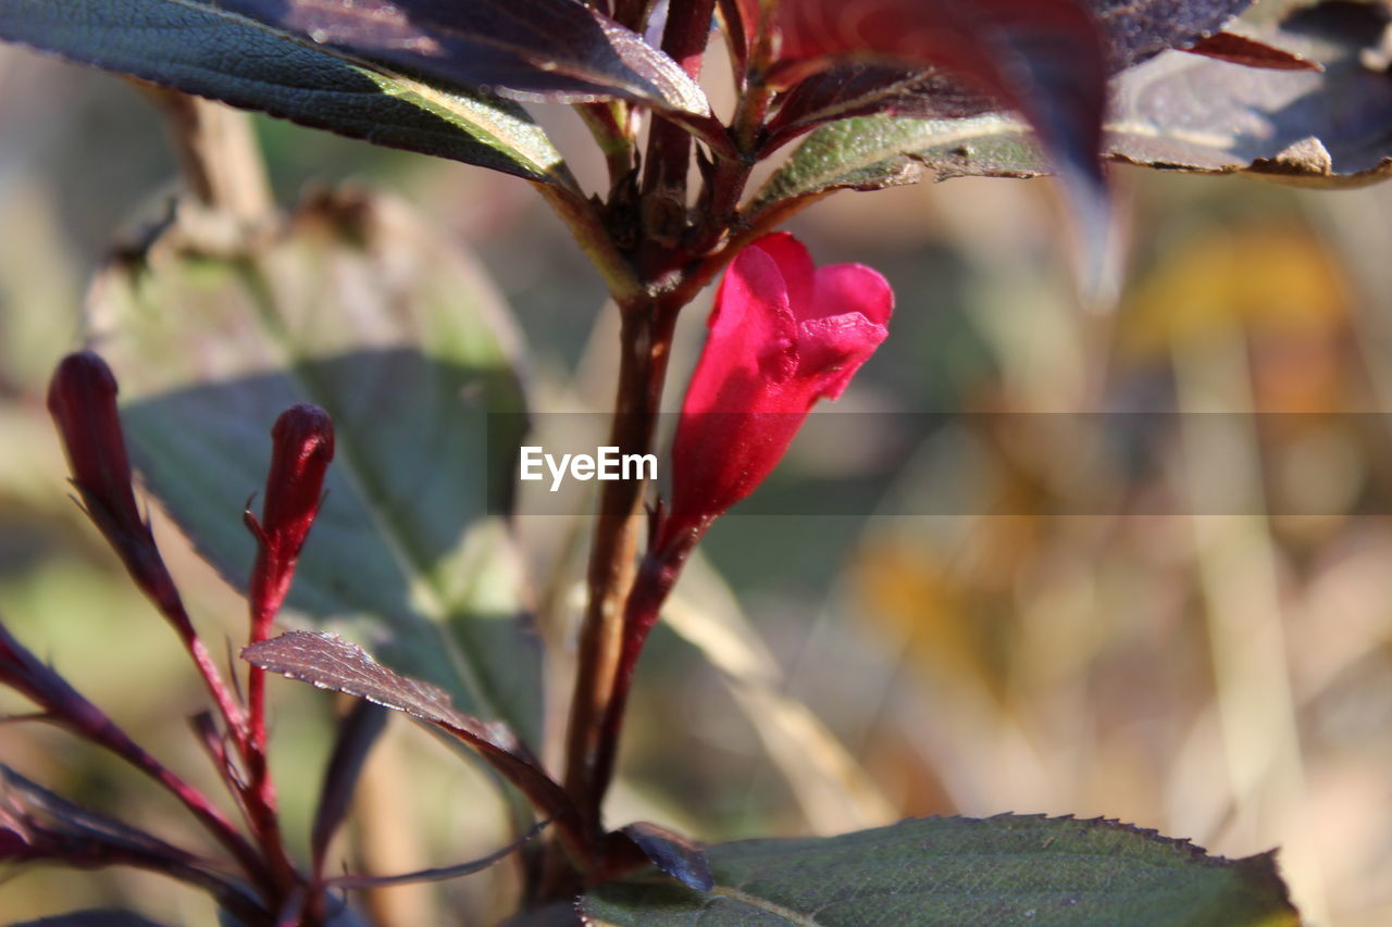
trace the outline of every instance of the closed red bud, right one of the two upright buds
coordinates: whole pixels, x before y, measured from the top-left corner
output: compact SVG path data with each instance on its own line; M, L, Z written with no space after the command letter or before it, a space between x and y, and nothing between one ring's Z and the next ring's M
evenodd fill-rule
M270 470L266 501L258 523L246 514L248 528L260 550L252 568L251 601L256 615L252 640L266 636L295 575L299 551L319 514L324 473L334 459L334 423L317 405L294 405L271 427Z

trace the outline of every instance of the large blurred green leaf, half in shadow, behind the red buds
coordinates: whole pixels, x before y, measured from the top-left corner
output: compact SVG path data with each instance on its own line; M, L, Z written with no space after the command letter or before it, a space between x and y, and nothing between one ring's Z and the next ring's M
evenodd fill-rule
M290 605L536 743L539 650L501 518L526 402L479 267L404 206L362 196L305 207L245 258L174 244L92 290L146 486L245 587L241 512L264 484L270 426L294 402L323 406L337 452Z

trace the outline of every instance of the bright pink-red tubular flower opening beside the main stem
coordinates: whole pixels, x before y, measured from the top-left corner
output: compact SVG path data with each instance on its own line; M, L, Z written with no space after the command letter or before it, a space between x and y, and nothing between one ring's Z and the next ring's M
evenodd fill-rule
M817 269L786 232L735 258L672 443L658 550L693 541L749 496L817 399L835 399L884 341L894 292L862 264Z

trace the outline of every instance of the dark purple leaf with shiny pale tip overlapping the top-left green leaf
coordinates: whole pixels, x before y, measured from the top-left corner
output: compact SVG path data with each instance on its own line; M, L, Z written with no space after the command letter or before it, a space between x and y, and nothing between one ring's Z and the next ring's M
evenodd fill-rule
M575 0L223 0L309 42L525 100L624 97L706 116L668 56Z

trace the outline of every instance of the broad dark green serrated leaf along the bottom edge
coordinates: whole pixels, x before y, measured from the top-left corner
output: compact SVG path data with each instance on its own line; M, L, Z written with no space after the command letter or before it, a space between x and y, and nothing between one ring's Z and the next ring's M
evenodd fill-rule
M903 821L707 852L711 892L657 876L580 901L587 924L642 927L1278 927L1299 924L1270 853L1207 856L1114 821L1001 814Z

